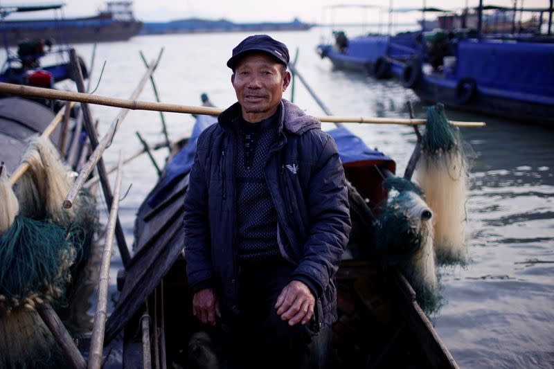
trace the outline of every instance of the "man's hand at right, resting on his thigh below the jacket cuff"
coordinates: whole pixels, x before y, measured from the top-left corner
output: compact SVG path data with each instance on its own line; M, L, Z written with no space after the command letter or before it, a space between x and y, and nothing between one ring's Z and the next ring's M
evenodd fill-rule
M283 321L289 321L289 325L298 322L306 324L314 315L315 303L316 299L307 285L293 280L279 294L275 308Z

